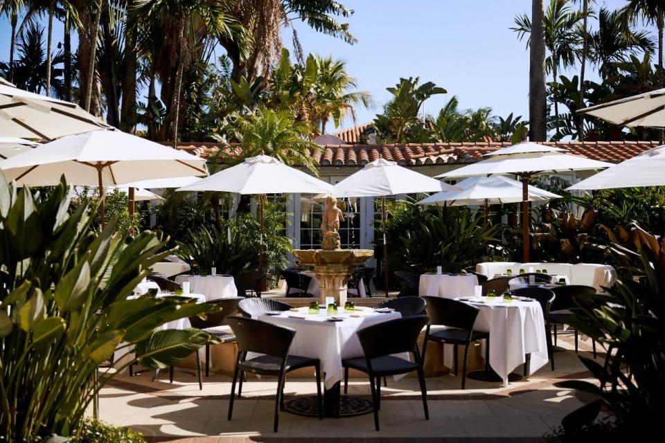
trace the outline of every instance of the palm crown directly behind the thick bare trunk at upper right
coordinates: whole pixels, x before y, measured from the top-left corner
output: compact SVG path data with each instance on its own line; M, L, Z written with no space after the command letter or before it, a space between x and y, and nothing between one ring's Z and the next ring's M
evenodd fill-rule
M552 73L554 87L558 81L559 69L575 64L580 46L578 26L582 19L582 12L571 10L568 0L551 0L547 6L543 17L543 28L549 57L545 60L545 67L548 73ZM518 33L520 40L526 34L531 35L531 19L526 14L515 17L515 25L517 27L511 29ZM527 45L529 42L530 39L527 40ZM554 102L554 115L558 120L557 102Z

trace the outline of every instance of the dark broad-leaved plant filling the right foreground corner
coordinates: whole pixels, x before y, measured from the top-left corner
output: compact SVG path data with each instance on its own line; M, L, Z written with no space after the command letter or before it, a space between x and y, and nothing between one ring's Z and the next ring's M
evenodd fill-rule
M616 235L607 230L613 240L608 251L626 275L609 295L580 299L573 309L574 326L608 354L604 364L580 356L596 383L556 383L596 397L563 419L562 434L569 439L591 432L628 435L638 429L658 435L665 410L665 240L635 224L619 228ZM636 275L642 278L632 278ZM610 422L596 420L602 407L612 413Z

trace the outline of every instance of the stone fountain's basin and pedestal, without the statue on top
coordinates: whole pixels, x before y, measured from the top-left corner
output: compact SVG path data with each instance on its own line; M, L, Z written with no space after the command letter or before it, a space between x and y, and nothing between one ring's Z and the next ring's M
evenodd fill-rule
M353 266L360 266L374 255L371 249L296 249L294 257L301 266L314 266L314 274L319 279L321 288L321 304L326 297L334 297L337 306L346 303L346 283L351 278Z

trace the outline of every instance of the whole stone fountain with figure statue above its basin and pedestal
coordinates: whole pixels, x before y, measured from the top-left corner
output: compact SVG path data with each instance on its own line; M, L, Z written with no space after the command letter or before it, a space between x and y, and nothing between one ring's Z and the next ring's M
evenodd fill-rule
M346 283L351 278L353 266L361 266L374 255L370 249L342 249L339 239L339 222L344 221L342 210L337 208L335 197L326 199L326 211L321 221L323 242L321 249L296 249L294 257L302 266L314 266L314 274L319 280L322 305L326 297L334 297L337 306L346 303Z

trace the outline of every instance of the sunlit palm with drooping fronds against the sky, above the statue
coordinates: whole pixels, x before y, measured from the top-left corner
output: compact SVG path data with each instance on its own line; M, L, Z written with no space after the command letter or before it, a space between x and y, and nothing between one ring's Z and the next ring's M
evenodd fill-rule
M317 66L317 79L314 80L314 91L316 94L316 105L314 105L314 116L312 120L319 123L321 134L326 134L326 124L332 117L335 127L351 114L355 123L354 105L371 107L371 94L367 91L349 91L355 89L357 83L346 72L346 66L342 60L332 60L332 57L320 57L310 55L314 58Z

